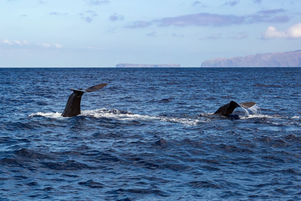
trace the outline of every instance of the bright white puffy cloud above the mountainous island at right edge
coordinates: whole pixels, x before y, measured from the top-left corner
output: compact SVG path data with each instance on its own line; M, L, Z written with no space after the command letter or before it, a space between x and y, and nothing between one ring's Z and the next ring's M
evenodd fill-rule
M284 31L277 31L274 26L269 26L265 32L261 33L262 40L268 40L272 38L301 38L301 23L294 24Z

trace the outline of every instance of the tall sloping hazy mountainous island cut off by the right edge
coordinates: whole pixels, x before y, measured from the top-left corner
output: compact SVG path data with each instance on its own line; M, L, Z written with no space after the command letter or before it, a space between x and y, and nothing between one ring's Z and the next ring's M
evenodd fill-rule
M202 62L201 67L301 67L301 50L214 58Z

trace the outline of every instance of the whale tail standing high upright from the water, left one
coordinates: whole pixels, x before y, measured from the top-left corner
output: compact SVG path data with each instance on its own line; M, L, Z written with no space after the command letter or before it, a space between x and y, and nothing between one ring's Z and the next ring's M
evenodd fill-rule
M92 92L100 90L105 87L108 83L97 84L86 89L70 89L73 93L69 96L66 107L62 113L62 117L75 117L81 114L81 100L82 95L86 92Z

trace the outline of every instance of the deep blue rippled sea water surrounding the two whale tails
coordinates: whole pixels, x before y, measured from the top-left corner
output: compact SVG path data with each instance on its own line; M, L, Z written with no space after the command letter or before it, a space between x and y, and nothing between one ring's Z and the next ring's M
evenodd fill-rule
M0 200L300 200L301 68L0 68ZM82 114L63 118L70 88ZM239 119L212 113L255 101Z

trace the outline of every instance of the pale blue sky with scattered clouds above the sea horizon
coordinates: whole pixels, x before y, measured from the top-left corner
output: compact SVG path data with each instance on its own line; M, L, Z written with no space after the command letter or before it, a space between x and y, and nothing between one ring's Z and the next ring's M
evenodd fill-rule
M295 0L0 0L0 67L200 67L301 49Z

